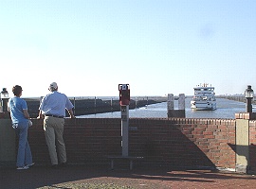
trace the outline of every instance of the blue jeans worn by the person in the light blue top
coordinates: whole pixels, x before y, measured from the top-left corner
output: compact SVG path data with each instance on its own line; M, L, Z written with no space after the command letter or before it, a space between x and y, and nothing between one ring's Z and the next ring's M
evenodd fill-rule
M15 129L15 132L19 137L19 147L16 165L25 166L27 164L33 163L30 146L27 141L28 123L22 122L18 124L13 124L13 128Z

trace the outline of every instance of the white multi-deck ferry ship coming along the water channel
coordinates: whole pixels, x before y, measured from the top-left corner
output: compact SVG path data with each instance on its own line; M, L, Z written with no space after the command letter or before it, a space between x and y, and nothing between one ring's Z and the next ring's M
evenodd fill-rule
M216 98L214 87L208 87L208 83L198 85L193 88L191 108L196 111L214 111L216 110Z

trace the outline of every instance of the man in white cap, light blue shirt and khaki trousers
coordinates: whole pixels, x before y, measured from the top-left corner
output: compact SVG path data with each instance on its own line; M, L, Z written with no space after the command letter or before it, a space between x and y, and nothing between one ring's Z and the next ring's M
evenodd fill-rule
M66 164L63 138L65 110L69 113L70 118L75 118L72 111L74 106L65 94L58 92L56 82L52 82L48 90L51 93L43 97L37 118L44 118L46 145L48 146L51 165L52 168L57 168Z

